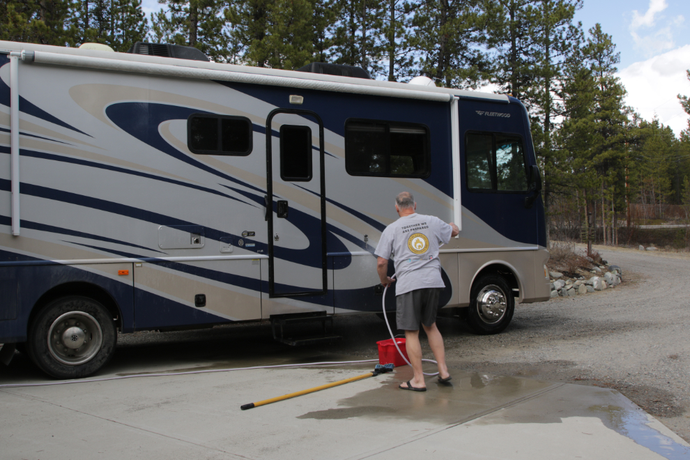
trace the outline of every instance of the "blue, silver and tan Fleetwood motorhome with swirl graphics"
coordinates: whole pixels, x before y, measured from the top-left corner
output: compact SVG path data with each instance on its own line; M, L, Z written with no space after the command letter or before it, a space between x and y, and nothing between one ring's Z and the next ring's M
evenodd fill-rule
M440 251L442 312L491 334L550 297L509 95L0 42L0 153L0 354L56 378L98 371L118 332L272 321L300 344L293 322L382 312L373 253L404 190L461 229Z

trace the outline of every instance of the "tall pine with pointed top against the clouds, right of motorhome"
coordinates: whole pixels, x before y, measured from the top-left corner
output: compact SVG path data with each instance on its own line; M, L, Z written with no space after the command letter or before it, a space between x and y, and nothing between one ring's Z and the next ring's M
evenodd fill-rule
M627 154L627 144L634 139L623 102L625 89L615 77L619 54L611 36L597 24L570 58L557 94L564 101L565 120L555 136L560 155L552 157L551 180L553 185L561 181L561 186L568 182L583 197L588 227L600 220L611 229L611 208L624 206L626 176L631 181L636 174Z

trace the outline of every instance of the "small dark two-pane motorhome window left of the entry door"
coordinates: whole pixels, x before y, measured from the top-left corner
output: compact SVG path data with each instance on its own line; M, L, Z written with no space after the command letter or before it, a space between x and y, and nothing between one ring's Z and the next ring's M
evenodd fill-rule
M187 119L187 146L201 155L249 155L252 122L244 116L192 114Z

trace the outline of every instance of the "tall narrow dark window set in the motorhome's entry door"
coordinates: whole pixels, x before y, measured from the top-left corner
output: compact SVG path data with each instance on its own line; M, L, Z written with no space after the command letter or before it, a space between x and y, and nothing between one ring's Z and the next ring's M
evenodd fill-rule
M291 182L312 180L312 130L309 126L280 127L280 178Z

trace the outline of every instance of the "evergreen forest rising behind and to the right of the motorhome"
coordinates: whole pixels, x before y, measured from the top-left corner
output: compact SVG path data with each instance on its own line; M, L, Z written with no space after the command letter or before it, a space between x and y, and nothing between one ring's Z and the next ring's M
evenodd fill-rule
M215 62L509 93L531 117L551 239L631 245L675 223L667 245L690 247L690 123L673 132L625 105L613 39L574 21L583 0L158 1L146 17L141 0L0 0L0 39L174 43ZM690 95L678 102L690 114Z

